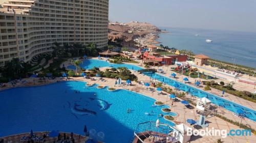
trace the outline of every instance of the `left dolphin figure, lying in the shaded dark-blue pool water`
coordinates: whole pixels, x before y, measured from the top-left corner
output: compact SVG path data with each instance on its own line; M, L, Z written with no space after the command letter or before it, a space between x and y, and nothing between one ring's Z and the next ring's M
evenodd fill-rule
M77 103L74 104L73 107L71 107L70 102L68 102L69 104L69 108L71 109L71 111L77 115L81 115L81 116L86 116L86 115L96 115L97 113L93 110L88 110L86 108L79 108L79 106Z

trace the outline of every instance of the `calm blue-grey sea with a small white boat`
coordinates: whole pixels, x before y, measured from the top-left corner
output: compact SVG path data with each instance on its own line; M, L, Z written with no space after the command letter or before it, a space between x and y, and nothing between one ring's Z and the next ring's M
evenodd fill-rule
M191 50L211 59L256 68L256 33L160 27L158 42L169 48ZM212 40L211 43L205 42Z

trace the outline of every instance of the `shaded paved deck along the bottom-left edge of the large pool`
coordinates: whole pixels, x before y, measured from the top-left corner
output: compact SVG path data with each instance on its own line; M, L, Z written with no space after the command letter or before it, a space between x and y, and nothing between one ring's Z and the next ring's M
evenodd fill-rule
M33 133L37 137L42 137L44 134L49 134L49 132L33 132ZM64 132L60 132L60 134L62 134L62 135L63 135L63 133ZM66 132L66 135L69 137L71 136L70 133L67 133L67 132ZM30 132L10 135L10 136L4 136L4 137L0 137L0 139L4 139L4 143L9 143L9 142L17 143L17 142L22 142L22 141L20 141L20 138L24 137L24 136L30 136ZM74 139L75 139L75 142L77 142L77 143L84 143L88 139L88 137L83 136L83 135L80 135L80 137L79 137L79 134L74 134ZM45 139L45 143L53 143L54 140L57 141L57 137L47 137ZM23 141L23 142L27 142L27 141Z

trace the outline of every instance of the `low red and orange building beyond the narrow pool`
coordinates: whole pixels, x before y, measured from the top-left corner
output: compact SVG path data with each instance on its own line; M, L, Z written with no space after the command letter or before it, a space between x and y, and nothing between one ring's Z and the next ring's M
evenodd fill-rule
M156 52L145 51L143 61L153 66L174 65L175 62L186 62L187 55L160 55Z

